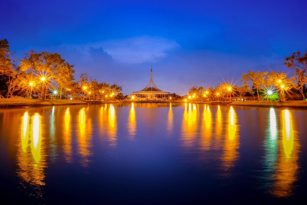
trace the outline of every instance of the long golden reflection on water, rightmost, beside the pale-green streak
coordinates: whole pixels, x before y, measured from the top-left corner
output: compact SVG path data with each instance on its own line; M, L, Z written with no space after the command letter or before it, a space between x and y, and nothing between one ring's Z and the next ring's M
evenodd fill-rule
M279 141L279 157L273 195L288 197L292 194L293 183L297 180L300 145L296 138L295 122L289 110L282 110L281 121L282 138Z

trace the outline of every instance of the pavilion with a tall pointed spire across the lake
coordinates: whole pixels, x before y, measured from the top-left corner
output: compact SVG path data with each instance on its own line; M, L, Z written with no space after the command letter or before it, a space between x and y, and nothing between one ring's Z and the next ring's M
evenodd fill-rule
M132 92L132 96L135 97L136 100L166 100L170 97L171 93L162 91L156 87L153 83L153 68L151 69L151 77L146 88Z

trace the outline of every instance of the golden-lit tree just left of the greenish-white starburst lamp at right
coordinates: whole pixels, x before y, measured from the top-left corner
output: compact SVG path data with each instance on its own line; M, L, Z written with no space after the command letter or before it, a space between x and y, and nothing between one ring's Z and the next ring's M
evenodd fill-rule
M252 72L252 71L248 71L248 73L244 73L242 72L243 76L241 78L241 81L243 81L243 84L244 85L249 85L249 82L251 82L252 84L252 88L255 88L256 89L256 92L257 92L257 96L258 96L258 101L260 101L260 98L259 98L259 91L263 91L264 92L264 89L265 89L265 78L266 78L266 75L268 74L268 72L260 72L260 71L257 71L257 72Z

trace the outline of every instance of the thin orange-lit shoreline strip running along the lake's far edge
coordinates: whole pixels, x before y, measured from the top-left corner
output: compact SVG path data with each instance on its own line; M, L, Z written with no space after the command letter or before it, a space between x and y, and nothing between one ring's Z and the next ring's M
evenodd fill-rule
M102 103L180 103L181 101L128 101L128 100L108 100L108 101L93 101L93 100L40 100L40 99L25 99L25 98L2 98L0 99L0 109L3 108L18 108L18 107L42 107L55 105L82 105L82 104L102 104ZM266 108L295 108L307 109L307 101L206 101L206 102L187 102L195 104L208 105L231 105L231 106L247 106L247 107L266 107Z

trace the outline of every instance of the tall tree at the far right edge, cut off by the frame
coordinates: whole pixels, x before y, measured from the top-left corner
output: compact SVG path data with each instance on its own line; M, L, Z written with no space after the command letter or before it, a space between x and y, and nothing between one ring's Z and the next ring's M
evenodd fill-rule
M300 91L303 100L305 100L304 86L307 84L307 51L304 56L301 55L300 51L294 52L290 57L285 58L283 63L287 68L295 70L295 74L298 76L295 79L297 81L295 88Z

